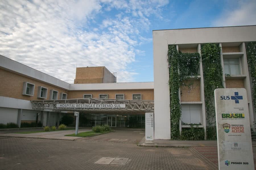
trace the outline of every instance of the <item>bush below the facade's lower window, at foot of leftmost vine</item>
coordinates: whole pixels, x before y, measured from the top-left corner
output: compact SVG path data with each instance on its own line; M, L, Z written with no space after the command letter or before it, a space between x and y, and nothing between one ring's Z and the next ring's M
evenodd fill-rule
M205 138L204 128L197 128L197 127L191 126L191 128L182 128L180 140L183 140L183 141L204 140Z

